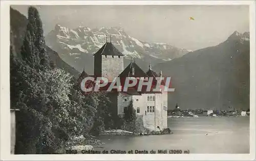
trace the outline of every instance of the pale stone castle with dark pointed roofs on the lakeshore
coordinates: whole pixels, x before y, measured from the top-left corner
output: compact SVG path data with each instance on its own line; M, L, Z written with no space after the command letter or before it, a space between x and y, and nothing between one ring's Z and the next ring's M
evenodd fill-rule
M151 69L151 65L147 72L144 72L135 61L123 69L123 54L112 44L106 43L93 55L94 56L94 75L93 77L107 77L113 80L115 77L153 77L156 83L156 77L161 77L162 72L157 74ZM89 76L84 70L79 78ZM164 81L161 86L164 86ZM167 128L167 92L147 92L142 90L138 92L135 88L129 88L127 92L109 92L112 100L110 108L116 115L123 115L124 108L133 102L136 114L143 119L145 128L156 130Z

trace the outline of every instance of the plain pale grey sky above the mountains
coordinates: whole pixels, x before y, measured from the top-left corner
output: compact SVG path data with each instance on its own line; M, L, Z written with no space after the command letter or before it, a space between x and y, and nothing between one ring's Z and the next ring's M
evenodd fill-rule
M28 6L12 8L27 16ZM56 24L74 29L119 26L134 38L196 50L225 41L234 31L249 32L249 6L35 6L47 35ZM195 20L190 20L193 17Z

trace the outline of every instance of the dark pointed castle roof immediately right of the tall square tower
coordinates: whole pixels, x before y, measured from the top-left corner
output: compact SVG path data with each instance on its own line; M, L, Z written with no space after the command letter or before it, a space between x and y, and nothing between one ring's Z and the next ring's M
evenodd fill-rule
M133 73L133 70L134 70L134 73ZM147 74L135 62L131 62L119 74L119 77L147 77Z

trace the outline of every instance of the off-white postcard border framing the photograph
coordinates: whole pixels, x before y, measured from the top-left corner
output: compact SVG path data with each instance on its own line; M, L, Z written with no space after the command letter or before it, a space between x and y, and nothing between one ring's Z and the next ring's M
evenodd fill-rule
M250 154L10 154L9 5L249 5ZM3 160L255 160L255 1L1 1L1 159Z

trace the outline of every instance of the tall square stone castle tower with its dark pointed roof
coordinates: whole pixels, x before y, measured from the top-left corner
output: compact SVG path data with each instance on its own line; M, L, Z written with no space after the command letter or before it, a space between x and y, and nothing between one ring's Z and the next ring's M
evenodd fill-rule
M107 77L111 82L123 71L123 54L112 44L106 43L93 55L94 76Z

